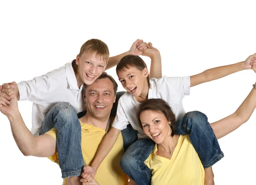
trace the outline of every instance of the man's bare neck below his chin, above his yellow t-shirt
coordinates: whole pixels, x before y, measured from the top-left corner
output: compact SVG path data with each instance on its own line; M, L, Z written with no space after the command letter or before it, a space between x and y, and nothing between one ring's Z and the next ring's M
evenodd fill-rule
M108 125L109 116L110 116L110 114L108 115L108 117L99 119L99 118L93 117L93 115L91 115L89 112L87 112L83 117L80 118L80 120L81 120L81 122L86 123L88 125L92 125L92 126L99 127L99 128L106 130L107 125Z

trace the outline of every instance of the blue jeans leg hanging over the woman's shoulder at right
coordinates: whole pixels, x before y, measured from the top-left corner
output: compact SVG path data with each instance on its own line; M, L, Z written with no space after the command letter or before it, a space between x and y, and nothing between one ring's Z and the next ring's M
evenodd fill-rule
M175 134L190 134L190 142L204 168L209 168L224 157L207 116L199 111L187 112L176 123Z

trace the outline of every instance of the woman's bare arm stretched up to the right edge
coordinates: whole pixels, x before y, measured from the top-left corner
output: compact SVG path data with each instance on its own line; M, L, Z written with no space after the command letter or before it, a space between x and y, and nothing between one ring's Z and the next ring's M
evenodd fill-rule
M254 85L256 88L256 83ZM249 120L250 116L253 114L254 109L256 108L255 88L252 88L236 112L228 117L223 118L222 120L210 124L217 139L226 136L230 132L236 130L236 128L239 128L239 126L241 126L243 123L247 122L247 120Z

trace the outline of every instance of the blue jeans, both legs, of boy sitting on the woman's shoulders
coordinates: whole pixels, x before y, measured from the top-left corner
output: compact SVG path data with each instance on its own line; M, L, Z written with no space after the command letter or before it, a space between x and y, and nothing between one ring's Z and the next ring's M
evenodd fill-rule
M186 113L176 123L175 134L190 134L190 142L197 151L204 168L209 168L224 157L207 116L199 111ZM123 134L123 137L126 136L127 134ZM138 139L125 151L120 161L123 172L128 174L137 185L151 184L151 170L144 161L148 158L154 145L155 143L151 139Z

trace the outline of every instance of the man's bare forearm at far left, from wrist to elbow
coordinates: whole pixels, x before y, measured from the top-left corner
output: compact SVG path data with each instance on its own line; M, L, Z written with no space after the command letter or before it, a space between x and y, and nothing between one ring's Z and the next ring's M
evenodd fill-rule
M35 138L26 127L20 112L17 111L8 119L11 123L12 135L18 148L25 156L31 155L32 148L35 148L36 145Z

